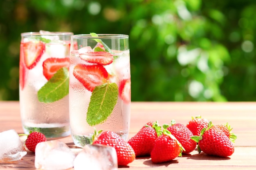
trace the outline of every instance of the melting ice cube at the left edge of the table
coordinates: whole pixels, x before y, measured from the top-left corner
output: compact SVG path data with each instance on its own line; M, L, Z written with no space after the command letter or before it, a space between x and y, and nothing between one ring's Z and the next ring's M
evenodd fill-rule
M0 163L19 161L26 154L24 144L15 130L0 132Z

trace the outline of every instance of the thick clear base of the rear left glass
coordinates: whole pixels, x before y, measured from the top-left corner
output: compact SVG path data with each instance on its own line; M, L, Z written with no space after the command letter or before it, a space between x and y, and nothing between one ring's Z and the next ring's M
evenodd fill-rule
M23 126L25 134L29 134L30 131L41 132L45 135L46 138L60 138L67 137L70 135L70 127L52 127L52 128L42 128L42 127L29 127Z

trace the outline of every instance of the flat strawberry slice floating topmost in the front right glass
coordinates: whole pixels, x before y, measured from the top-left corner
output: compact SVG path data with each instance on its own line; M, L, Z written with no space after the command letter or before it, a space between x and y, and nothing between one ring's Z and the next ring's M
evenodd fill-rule
M113 55L106 51L88 51L86 54L80 54L79 57L86 62L101 65L111 64L114 60Z

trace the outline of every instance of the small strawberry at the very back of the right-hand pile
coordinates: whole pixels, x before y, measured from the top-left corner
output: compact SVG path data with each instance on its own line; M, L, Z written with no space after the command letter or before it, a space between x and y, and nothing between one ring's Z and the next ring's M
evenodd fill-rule
M193 135L200 135L203 128L207 128L209 121L207 119L202 119L201 116L192 117L192 120L186 125L187 128L193 133Z

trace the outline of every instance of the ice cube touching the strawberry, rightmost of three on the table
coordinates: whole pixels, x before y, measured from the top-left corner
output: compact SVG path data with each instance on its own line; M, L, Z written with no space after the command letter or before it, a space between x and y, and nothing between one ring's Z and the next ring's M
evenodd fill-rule
M111 146L85 145L74 160L74 170L117 170L117 152Z

